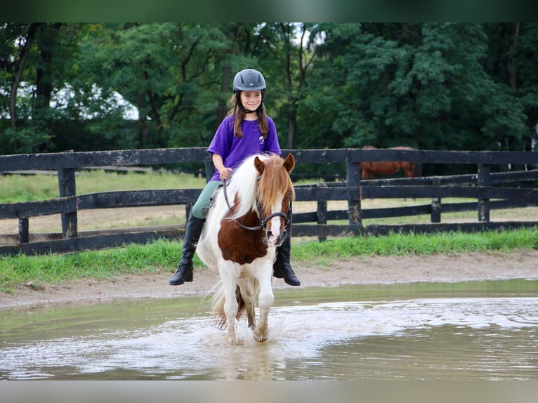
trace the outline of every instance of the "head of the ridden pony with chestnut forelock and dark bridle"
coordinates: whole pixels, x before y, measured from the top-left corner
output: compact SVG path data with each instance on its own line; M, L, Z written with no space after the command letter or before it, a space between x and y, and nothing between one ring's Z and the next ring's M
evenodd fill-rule
M289 173L295 166L294 156L286 159L272 155L266 159L256 156L254 166L258 171L256 202L261 225L270 246L280 246L287 237L291 221L291 201L295 197Z

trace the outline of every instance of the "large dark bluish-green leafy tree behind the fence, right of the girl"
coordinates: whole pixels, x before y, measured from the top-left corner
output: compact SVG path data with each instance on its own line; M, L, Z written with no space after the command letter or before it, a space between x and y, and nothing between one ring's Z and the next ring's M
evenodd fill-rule
M346 144L491 150L518 136L524 116L485 72L487 44L478 24L363 25L342 64ZM367 132L342 124L350 110Z

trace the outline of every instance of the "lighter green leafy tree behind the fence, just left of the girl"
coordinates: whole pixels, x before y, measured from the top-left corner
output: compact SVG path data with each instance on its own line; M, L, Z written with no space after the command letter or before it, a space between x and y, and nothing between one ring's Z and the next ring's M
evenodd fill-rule
M87 81L137 105L141 147L189 146L206 138L197 113L218 103L217 56L227 46L216 25L103 25L83 46Z

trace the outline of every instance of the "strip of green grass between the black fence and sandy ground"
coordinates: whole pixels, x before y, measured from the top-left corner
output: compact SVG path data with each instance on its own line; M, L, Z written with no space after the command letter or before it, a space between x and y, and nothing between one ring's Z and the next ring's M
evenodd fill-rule
M327 242L294 243L292 260L312 265L357 256L433 255L466 252L509 252L537 250L538 230L514 230L463 234L400 234L386 237L329 239ZM172 272L181 258L181 242L159 240L147 245L129 245L104 251L85 251L67 255L0 257L0 291L13 293L18 286L31 283L62 284L74 279L108 279L124 275L149 275L161 270ZM196 257L195 265L202 267Z

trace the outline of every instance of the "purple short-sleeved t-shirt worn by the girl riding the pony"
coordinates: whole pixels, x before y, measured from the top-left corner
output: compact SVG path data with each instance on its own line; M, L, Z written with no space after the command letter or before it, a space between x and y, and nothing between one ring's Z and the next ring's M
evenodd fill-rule
M257 120L242 121L241 129L243 137L238 138L234 136L232 119L232 115L224 118L207 149L211 154L220 155L223 159L224 166L235 169L245 158L258 152L271 152L278 155L282 153L278 144L277 129L275 128L273 119L267 117L269 131L265 138L261 136ZM211 180L221 180L221 176L217 170L215 170Z

